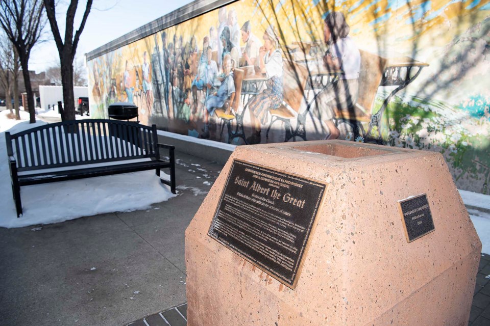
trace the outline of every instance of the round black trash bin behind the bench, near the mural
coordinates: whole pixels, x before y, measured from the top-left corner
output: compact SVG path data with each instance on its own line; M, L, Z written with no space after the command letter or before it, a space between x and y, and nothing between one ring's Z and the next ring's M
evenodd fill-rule
M138 106L129 102L115 102L108 107L109 119L126 120L130 124L137 125L138 119ZM137 121L129 121L130 119L137 118ZM137 128L131 128L131 125L121 125L120 127L113 126L109 130L109 135L129 142L132 145L141 147L141 134L137 133Z

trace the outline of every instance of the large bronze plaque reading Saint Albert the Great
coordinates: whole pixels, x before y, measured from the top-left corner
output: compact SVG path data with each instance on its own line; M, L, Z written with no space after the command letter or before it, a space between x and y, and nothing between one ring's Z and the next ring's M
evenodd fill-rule
M294 289L325 184L234 160L208 235Z

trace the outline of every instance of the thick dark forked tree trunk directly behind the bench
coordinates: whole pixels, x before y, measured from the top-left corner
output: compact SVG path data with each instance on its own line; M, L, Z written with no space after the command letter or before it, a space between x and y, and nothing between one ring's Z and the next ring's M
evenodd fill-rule
M58 53L60 55L61 85L63 86L63 102L65 105L64 119L75 120L75 97L73 94L73 61L75 60L75 53L77 52L80 35L82 34L82 31L85 27L85 22L87 21L88 14L90 13L90 9L92 7L92 0L87 0L82 21L78 30L75 32L75 35L74 21L75 14L78 9L78 0L71 0L68 5L68 9L66 10L64 40L61 38L60 29L56 20L55 1L44 0L44 5L46 6L47 18L50 22L51 31L53 32L56 47L58 48Z

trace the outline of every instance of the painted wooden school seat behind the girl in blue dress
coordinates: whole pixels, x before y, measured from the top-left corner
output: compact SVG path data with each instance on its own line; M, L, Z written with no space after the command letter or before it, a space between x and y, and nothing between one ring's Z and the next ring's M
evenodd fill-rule
M228 144L234 138L241 138L247 144L247 140L245 139L245 132L243 130L243 113L245 110L239 111L240 106L240 98L241 98L241 88L243 85L243 75L244 71L242 69L236 68L233 70L233 80L235 82L235 97L233 98L233 102L226 101L225 105L221 108L217 108L214 113L216 117L220 119L221 131L219 133L219 141L222 140L223 137L223 129L225 128L225 124L228 129ZM227 108L231 108L230 112L227 113ZM232 123L235 121L236 125L234 130L232 130Z

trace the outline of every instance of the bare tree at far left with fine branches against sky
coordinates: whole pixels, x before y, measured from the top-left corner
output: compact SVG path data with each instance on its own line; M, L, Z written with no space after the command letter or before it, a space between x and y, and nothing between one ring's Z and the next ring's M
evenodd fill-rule
M41 0L0 1L0 26L19 56L31 123L36 122L36 112L29 75L29 57L33 46L41 37L45 24L44 3Z

